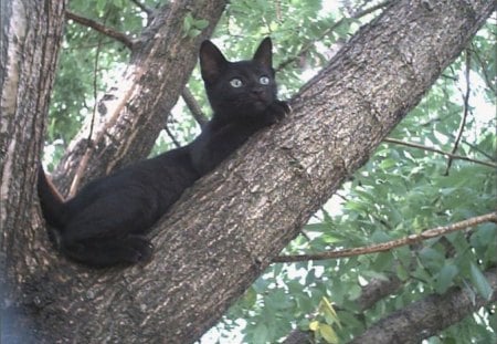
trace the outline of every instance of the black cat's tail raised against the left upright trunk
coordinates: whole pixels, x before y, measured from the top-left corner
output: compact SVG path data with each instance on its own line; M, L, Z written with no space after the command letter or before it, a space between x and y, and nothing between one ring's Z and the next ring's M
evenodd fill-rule
M43 166L38 168L38 196L46 223L61 230L64 227L64 198L46 178Z

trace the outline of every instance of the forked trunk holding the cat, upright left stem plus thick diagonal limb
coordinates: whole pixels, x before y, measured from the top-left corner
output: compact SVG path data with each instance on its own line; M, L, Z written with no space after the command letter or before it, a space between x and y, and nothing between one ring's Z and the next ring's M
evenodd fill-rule
M57 8L60 2L53 2ZM35 3L30 6L46 9ZM12 100L4 80L13 79L2 76L1 148L9 156L1 167L1 258L9 272L4 282L15 291L3 298L2 306L9 300L20 319L31 320L23 332L36 342L199 338L341 181L368 160L495 7L495 1L394 1L302 90L293 100L292 116L256 135L187 191L156 227L154 260L126 270L88 270L47 246L32 204L47 90L34 84L38 122L31 128L15 127L15 121L33 121L33 111L3 115L4 100ZM53 34L57 40L60 27ZM53 65L47 71L53 73ZM118 166L133 150L126 149L131 140L123 139L124 146L108 150L99 170Z

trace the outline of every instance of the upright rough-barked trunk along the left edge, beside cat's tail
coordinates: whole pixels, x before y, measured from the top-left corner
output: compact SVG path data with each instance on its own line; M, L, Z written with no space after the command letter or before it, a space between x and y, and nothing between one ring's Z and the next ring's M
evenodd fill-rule
M40 6L41 4L41 6ZM49 108L61 43L65 1L1 2L0 117L0 342L29 329L13 313L24 296L24 273L36 269L34 253L44 243L33 196L35 170L43 146L43 122ZM40 234L43 233L43 234ZM43 248L42 248L43 250ZM24 317L27 320L27 317Z

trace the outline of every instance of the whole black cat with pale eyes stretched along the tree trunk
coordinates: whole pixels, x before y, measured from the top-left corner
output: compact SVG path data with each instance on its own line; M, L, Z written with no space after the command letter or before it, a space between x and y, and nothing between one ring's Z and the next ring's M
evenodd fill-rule
M288 105L276 98L269 38L253 60L240 62L226 61L204 41L200 66L214 114L189 145L96 179L67 201L39 169L43 216L68 258L95 268L149 260L152 246L145 234L184 189L288 113Z

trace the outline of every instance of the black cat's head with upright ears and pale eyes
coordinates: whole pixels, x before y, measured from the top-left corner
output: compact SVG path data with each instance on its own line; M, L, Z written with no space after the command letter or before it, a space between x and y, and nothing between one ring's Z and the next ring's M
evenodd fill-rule
M212 42L202 43L200 67L215 116L256 116L276 100L272 46L265 38L252 60L230 62Z

